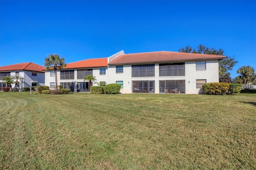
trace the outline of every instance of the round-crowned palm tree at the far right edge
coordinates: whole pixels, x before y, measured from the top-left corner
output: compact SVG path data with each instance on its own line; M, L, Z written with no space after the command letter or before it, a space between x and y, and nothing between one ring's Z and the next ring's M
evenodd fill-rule
M245 87L248 87L247 85L249 81L252 81L255 75L254 68L252 68L250 65L240 67L237 70L237 73L240 73L239 77L241 78L242 83L245 85Z

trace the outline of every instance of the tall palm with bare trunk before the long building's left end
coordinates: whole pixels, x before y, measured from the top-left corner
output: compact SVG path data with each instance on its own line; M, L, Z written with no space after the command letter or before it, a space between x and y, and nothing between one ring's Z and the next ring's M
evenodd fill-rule
M55 89L58 88L57 83L57 70L64 69L67 64L65 63L64 57L60 58L58 54L50 54L48 57L44 58L44 66L46 71L54 70L55 75Z

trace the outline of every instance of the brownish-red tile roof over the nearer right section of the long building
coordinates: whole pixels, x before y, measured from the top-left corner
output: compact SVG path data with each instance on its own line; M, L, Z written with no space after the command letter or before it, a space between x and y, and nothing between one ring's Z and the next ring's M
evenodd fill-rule
M202 60L202 59L223 59L222 55L208 55L208 54L194 54L181 53L171 51L157 51L147 53L132 53L123 54L113 59L108 65L116 64L133 64L133 63L157 63L167 61L188 61L188 60Z

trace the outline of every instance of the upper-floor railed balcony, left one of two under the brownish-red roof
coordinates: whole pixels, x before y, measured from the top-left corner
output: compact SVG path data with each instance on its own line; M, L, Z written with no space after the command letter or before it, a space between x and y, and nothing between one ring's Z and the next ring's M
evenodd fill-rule
M132 77L154 77L155 65L132 65Z

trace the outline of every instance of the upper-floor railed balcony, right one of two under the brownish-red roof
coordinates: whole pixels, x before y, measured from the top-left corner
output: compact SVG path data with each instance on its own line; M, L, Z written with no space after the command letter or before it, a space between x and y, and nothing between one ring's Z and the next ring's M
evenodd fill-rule
M185 76L185 63L159 64L159 76Z

